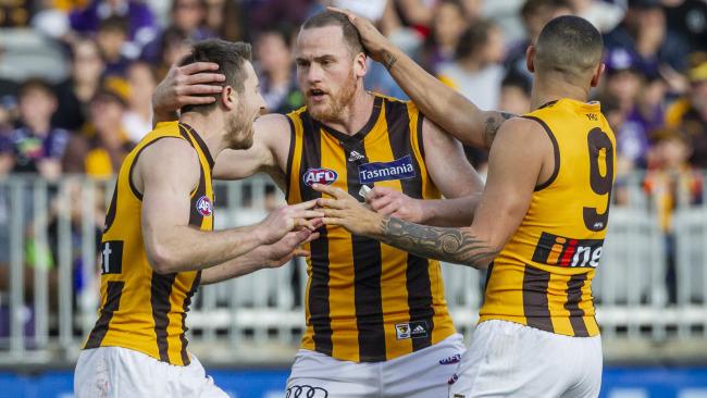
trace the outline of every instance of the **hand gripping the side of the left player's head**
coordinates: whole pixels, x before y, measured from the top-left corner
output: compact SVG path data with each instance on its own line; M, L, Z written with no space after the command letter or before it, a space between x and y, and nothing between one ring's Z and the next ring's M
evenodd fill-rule
M158 115L171 114L184 105L207 104L215 101L226 77L219 73L219 64L195 62L172 65L164 79L154 89L152 109Z

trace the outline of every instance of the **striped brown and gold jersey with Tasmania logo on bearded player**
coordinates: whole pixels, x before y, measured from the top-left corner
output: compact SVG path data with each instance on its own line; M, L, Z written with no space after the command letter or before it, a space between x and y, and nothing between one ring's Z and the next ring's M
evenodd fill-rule
M359 200L362 185L419 199L439 198L425 169L422 114L411 102L376 96L367 125L348 136L313 120L306 108L287 115L292 140L287 201L321 197L328 184ZM302 348L355 362L397 358L455 333L437 261L326 226L310 244Z

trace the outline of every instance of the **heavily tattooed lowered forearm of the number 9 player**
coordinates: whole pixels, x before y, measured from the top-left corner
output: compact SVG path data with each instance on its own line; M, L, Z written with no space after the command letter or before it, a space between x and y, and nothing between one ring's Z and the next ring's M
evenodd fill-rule
M485 241L458 228L413 224L386 217L380 239L398 249L427 259L483 268L497 254Z

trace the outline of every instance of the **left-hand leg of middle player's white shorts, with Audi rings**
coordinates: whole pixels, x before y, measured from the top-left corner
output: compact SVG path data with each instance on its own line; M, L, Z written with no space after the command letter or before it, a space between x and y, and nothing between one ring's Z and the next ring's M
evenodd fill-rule
M379 398L377 364L339 361L300 350L287 380L286 398Z

